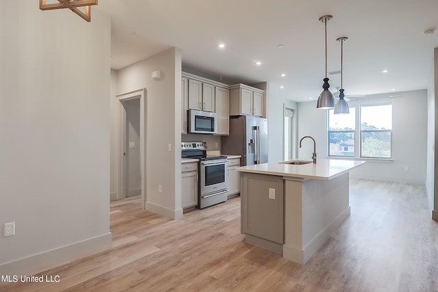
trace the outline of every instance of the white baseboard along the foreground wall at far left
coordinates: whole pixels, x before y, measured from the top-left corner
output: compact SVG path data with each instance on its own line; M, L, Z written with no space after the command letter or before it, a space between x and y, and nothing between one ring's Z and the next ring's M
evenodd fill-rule
M0 275L36 274L111 248L112 233L47 250L0 265Z

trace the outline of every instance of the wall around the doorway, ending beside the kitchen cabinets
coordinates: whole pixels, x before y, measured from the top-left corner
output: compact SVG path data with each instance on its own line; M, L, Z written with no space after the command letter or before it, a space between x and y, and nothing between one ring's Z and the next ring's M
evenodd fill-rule
M151 73L156 70L161 71L159 80L151 79ZM146 88L145 208L154 213L178 219L182 217L181 50L168 49L118 70L117 75L116 94ZM112 107L118 107L119 104L120 102L112 96ZM119 120L117 115L112 118ZM118 141L118 129L113 129L112 132L116 136L114 139ZM169 144L170 152L168 151ZM112 148L116 150L117 146ZM111 179L117 179L117 177ZM158 191L159 185L162 185L162 193Z

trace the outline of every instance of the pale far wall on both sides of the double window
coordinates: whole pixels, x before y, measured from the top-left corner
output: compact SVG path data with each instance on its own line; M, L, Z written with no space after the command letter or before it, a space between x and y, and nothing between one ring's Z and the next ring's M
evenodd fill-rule
M427 142L427 91L400 92L391 98L393 105L392 161L368 160L360 168L352 170L350 177L383 181L402 181L424 185L426 182ZM384 95L359 98L357 102L387 100ZM396 95L396 93L394 93ZM326 111L316 109L316 101L298 103L298 137L311 135L316 140L318 158L327 157ZM310 159L313 152L311 141L303 141L298 148L298 158ZM409 166L409 171L404 170Z

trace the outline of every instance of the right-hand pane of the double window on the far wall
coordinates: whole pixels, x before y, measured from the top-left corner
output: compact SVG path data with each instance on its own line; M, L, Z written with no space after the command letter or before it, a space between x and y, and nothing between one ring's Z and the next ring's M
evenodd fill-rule
M361 157L391 158L392 105L361 106Z

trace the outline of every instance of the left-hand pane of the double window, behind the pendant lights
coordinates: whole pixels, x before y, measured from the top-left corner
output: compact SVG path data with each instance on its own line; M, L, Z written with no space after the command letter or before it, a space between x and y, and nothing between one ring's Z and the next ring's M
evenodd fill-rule
M335 115L329 111L329 156L355 157L355 108L350 114Z

